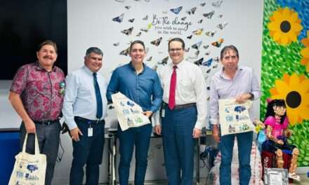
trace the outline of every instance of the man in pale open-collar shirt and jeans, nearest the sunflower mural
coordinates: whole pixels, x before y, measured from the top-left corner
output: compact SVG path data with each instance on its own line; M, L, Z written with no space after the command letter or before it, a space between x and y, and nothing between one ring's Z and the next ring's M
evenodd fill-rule
M225 46L221 50L223 68L211 78L210 85L210 113L213 127L213 137L218 142L221 151L220 184L231 184L232 149L235 137L238 143L239 184L249 184L251 177L250 155L253 132L242 132L233 135L221 136L218 127L218 100L235 98L236 102L257 100L261 97L261 89L254 70L239 66L239 54L235 46ZM253 107L248 109L251 121L254 121Z

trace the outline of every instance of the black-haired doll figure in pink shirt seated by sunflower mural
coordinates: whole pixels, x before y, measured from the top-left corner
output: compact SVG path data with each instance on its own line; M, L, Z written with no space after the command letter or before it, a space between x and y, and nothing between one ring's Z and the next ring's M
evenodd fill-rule
M263 142L263 150L276 154L278 168L283 168L282 153L291 154L289 178L300 181L301 177L295 173L299 151L296 146L287 143L287 139L292 135L293 131L288 129L289 119L284 100L268 100L265 118L264 125L267 139Z

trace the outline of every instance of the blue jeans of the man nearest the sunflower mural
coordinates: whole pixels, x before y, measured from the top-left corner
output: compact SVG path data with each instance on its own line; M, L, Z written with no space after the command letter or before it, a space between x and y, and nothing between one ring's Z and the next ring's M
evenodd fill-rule
M234 140L237 137L239 160L239 184L249 184L251 177L250 156L253 132L243 132L234 135L221 136L219 149L221 151L220 184L231 184L231 164Z

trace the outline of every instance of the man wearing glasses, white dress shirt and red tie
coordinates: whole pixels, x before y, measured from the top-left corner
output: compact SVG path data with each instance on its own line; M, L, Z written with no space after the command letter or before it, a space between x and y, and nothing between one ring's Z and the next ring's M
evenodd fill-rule
M163 88L162 134L166 176L170 185L192 184L194 147L206 121L206 83L202 70L185 61L185 43L180 38L169 41L173 63L159 71ZM157 124L157 123L156 123ZM161 132L162 131L162 132Z

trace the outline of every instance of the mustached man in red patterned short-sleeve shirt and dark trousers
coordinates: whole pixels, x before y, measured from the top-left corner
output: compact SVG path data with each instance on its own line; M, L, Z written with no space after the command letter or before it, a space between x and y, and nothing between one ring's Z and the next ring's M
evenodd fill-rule
M22 118L20 148L28 133L27 153L34 153L34 133L37 134L41 153L46 154L45 184L51 184L60 142L59 115L63 104L65 76L53 64L57 46L44 41L37 50L38 61L25 64L15 74L10 89L13 108Z

